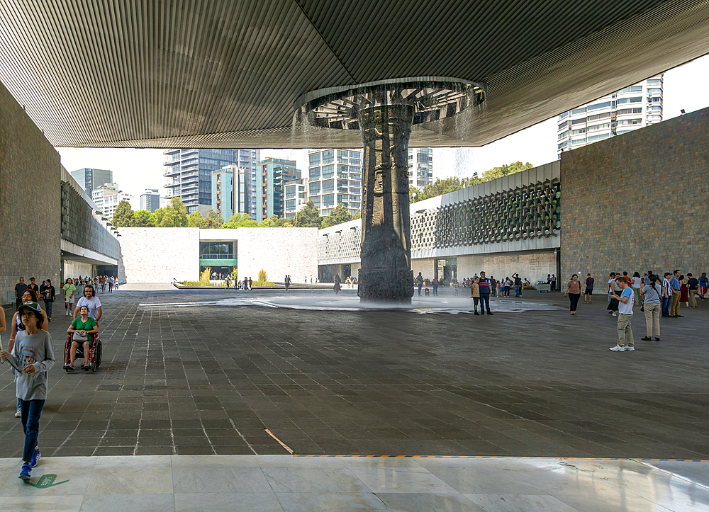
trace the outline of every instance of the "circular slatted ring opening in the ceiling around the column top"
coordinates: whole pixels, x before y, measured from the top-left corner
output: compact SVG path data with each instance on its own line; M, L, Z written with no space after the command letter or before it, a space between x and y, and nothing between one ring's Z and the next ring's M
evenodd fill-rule
M458 79L403 79L357 86L332 87L304 94L296 101L303 123L338 130L359 130L360 110L387 105L411 105L413 124L451 118L481 104L481 84Z

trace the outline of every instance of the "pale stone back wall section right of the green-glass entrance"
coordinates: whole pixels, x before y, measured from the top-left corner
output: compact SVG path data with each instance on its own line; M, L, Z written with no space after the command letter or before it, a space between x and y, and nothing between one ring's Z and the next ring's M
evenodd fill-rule
M255 280L262 268L269 280L281 283L286 274L294 283L318 275L318 228L240 227L236 231L239 278Z

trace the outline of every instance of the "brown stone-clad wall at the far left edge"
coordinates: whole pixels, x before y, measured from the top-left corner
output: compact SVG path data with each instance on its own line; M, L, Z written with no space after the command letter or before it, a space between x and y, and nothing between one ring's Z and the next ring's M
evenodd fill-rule
M22 275L59 283L59 154L0 84L0 303Z

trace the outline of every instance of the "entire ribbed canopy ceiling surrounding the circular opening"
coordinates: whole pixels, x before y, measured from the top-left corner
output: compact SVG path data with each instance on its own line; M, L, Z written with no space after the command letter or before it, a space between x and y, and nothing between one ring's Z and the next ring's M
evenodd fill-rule
M707 0L0 0L0 82L55 146L356 147L296 98L486 84L412 146L478 146L709 52Z

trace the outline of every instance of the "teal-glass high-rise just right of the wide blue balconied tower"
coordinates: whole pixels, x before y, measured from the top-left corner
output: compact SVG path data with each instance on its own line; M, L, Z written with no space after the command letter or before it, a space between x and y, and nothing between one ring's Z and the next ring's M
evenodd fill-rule
M269 219L273 215L285 215L284 186L292 180L301 178L301 171L296 169L296 161L268 158L257 164L259 178L256 197L257 222Z

